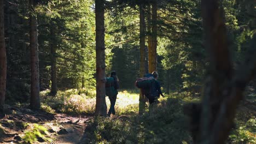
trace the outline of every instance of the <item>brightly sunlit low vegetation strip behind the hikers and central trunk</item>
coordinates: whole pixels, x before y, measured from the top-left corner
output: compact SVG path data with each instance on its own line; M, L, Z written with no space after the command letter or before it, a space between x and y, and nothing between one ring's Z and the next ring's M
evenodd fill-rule
M50 90L40 92L42 98L41 109L55 113L83 115L85 113L93 114L96 105L96 91L94 89L67 89L66 91L58 91L55 97L50 97ZM139 103L139 93L131 90L121 90L117 96L115 108L117 115L122 115L127 112L137 113ZM109 109L110 101L106 97L106 104ZM128 107L128 108L127 108Z

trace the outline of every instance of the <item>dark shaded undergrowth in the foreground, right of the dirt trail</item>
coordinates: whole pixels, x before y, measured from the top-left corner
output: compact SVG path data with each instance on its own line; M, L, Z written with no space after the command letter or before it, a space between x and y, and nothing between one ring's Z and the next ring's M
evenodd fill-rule
M93 119L86 143L190 143L187 118L179 98L160 99L142 115Z

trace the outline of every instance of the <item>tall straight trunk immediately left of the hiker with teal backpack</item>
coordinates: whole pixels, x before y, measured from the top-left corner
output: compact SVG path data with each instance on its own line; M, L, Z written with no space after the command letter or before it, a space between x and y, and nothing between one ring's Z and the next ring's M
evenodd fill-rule
M95 0L96 12L96 115L107 116L105 89L104 0Z

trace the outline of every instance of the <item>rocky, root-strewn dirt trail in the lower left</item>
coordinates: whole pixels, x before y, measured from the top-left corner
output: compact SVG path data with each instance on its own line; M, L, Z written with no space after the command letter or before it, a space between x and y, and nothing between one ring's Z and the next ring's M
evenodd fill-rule
M73 117L9 107L11 113L0 119L0 143L28 143L24 137L29 131L40 131L31 143L78 143L91 117ZM41 127L42 126L42 127ZM42 129L42 130L41 130ZM42 132L46 129L46 133Z

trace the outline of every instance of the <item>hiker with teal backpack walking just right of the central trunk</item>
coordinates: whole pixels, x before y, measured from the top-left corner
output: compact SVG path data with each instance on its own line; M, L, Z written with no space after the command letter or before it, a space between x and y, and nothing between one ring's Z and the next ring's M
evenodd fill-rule
M106 77L106 95L110 100L110 108L108 111L108 116L115 115L115 101L117 100L117 89L119 88L118 77L115 71L112 71L110 77Z

